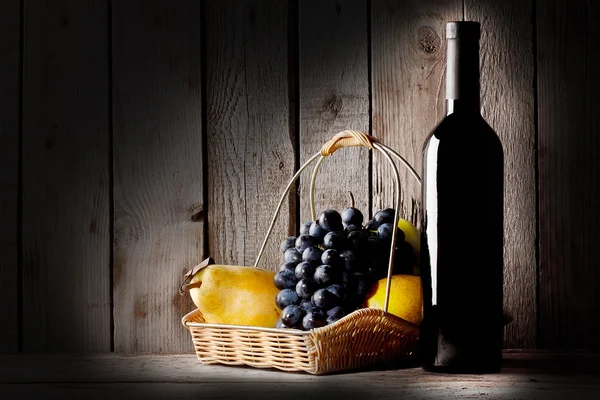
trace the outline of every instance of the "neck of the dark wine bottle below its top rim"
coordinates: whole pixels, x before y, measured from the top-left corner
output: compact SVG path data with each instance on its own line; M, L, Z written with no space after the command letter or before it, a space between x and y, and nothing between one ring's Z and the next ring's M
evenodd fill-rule
M447 114L479 114L479 41L448 39L446 63Z

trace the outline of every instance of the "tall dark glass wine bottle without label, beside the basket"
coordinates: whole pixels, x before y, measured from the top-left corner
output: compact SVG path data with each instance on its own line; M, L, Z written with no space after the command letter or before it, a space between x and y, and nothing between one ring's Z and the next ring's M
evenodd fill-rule
M447 115L423 149L421 366L502 364L504 154L479 104L477 22L446 26Z

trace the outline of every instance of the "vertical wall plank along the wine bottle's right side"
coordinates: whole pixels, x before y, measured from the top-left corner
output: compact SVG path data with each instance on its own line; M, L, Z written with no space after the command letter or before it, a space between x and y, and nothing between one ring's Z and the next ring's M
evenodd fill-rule
M466 0L481 23L481 108L504 147L506 348L536 346L536 177L532 3ZM485 216L482 216L485 217Z

